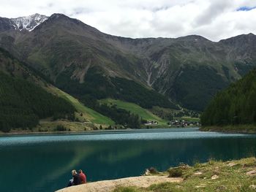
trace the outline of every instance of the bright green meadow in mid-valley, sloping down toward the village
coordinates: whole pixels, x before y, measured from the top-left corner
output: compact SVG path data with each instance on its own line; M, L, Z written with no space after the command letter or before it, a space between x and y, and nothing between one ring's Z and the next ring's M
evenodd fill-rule
M102 99L99 102L102 104L109 104L109 105L116 104L118 108L132 112L135 115L139 115L141 118L145 120L157 120L159 125L165 125L165 126L167 125L167 120L163 120L162 118L157 117L157 115L154 115L149 110L146 110L140 107L138 104L115 100L115 99Z

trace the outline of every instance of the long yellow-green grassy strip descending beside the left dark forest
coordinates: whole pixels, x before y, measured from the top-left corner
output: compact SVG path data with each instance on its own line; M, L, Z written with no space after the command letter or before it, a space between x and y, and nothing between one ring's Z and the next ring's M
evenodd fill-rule
M83 114L83 117L85 120L89 120L91 123L96 123L96 124L104 124L104 125L115 124L113 120L111 120L110 118L100 114L99 112L91 110L89 107L84 106L78 101L78 99L75 99L73 96L70 96L68 93L65 93L64 91L61 91L55 87L49 87L49 89L50 89L50 92L55 93L56 95L72 103L75 109L78 110L79 113Z

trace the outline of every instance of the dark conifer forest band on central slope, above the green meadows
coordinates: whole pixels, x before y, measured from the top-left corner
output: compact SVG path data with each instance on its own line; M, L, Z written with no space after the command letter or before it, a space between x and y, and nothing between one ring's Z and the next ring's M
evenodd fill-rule
M91 106L91 99L115 98L133 102L144 108L153 106L178 109L175 104L157 91L149 90L132 80L120 77L105 77L97 67L88 70L83 83L69 80L70 69L59 74L56 86L77 96L84 104Z

